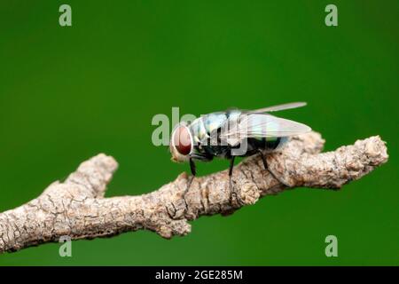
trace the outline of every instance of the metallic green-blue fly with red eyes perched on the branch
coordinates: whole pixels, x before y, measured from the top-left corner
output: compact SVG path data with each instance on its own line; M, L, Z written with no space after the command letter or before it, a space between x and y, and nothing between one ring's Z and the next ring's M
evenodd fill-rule
M189 162L194 177L195 161L210 162L215 157L228 159L230 182L236 156L260 154L265 170L269 170L263 151L273 152L284 145L288 137L311 130L305 124L269 113L301 106L306 106L306 103L295 102L250 111L229 110L202 115L190 123L181 122L171 135L172 161ZM270 174L276 177L271 171Z

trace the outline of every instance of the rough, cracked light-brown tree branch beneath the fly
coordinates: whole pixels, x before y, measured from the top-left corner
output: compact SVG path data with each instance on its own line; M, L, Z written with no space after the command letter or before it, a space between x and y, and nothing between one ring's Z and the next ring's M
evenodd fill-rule
M270 170L278 180L254 156L234 168L234 194L223 170L194 178L184 197L185 173L153 193L104 198L118 165L112 157L98 154L63 183L57 181L33 201L0 214L0 253L58 241L63 235L93 239L148 229L163 238L183 236L191 231L188 220L231 214L264 195L283 191L286 185L337 189L387 162L387 147L378 136L319 154L324 142L311 132L291 138L281 151L268 154Z

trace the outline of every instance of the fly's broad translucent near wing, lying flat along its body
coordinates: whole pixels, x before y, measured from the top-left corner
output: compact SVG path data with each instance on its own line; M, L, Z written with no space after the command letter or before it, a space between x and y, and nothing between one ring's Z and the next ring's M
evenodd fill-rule
M221 137L239 141L243 138L289 137L309 132L309 126L270 114L243 114L221 132Z

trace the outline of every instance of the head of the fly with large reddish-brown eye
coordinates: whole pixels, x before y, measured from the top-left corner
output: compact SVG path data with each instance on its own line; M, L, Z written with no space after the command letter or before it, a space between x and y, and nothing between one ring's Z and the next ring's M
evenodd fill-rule
M192 132L184 123L177 125L170 139L170 154L173 162L187 162L192 153Z

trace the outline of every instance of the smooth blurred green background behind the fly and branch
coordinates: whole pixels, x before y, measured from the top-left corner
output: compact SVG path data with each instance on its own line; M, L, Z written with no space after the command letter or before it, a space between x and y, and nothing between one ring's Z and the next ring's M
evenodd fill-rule
M325 26L336 4L339 27ZM73 26L59 26L59 5ZM206 114L296 100L281 113L325 150L380 135L389 162L340 192L301 188L184 238L124 233L0 256L22 264L399 264L399 2L17 1L0 3L0 211L35 198L95 154L120 169L107 196L149 193L184 164L153 146L154 114ZM200 174L227 162L200 164ZM339 256L325 256L325 236Z

